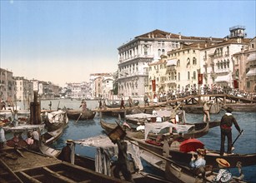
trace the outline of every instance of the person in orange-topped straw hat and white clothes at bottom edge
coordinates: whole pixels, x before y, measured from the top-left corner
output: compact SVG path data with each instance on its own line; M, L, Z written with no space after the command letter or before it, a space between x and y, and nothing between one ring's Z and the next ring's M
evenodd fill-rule
M218 167L220 168L218 171L218 175L213 177L214 182L229 182L232 179L232 174L228 170L230 164L228 161L223 158L217 158Z

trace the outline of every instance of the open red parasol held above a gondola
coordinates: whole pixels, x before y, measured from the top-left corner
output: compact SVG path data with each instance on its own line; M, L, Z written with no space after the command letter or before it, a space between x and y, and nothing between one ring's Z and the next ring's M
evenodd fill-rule
M188 139L183 141L179 145L179 151L182 152L190 152L190 151L197 151L198 148L203 149L203 142L199 141L198 139Z

